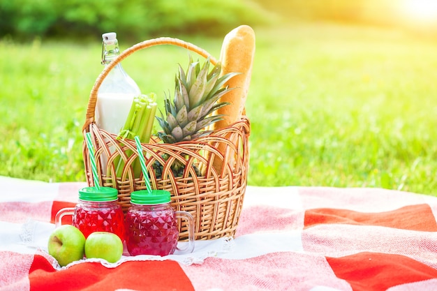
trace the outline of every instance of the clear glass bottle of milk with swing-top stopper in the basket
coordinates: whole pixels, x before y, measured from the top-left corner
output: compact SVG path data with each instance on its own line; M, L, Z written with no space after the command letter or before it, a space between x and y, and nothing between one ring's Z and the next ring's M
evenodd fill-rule
M117 33L103 33L102 64L108 65L119 54ZM109 133L119 134L126 122L132 101L141 94L140 88L124 71L121 64L110 70L97 92L96 125Z

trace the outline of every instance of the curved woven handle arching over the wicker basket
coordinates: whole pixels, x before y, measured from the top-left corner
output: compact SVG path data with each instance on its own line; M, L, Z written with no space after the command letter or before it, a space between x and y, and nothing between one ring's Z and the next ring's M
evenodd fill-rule
M114 68L114 66L119 64L119 62L123 61L124 59L126 59L126 57L133 54L134 52L145 49L147 47L152 47L154 45L176 45L178 47L184 47L187 50L191 50L192 52L195 52L200 56L205 57L205 59L209 57L211 64L213 64L214 66L217 64L216 59L212 57L212 55L209 54L206 50L203 50L202 48L193 45L192 43L188 43L178 38L161 37L161 38L153 38L150 40L142 41L141 43L137 43L136 45L129 47L124 52L121 52L121 54L119 54L117 58L111 61L110 64L108 64L108 66L106 66L103 69L102 73L98 75L97 80L94 83L94 86L92 87L91 93L89 95L87 117L85 119L84 126L82 127L82 131L89 130L89 125L94 122L94 111L96 110L98 88L100 88L103 80L105 79L106 76L108 76L110 70Z

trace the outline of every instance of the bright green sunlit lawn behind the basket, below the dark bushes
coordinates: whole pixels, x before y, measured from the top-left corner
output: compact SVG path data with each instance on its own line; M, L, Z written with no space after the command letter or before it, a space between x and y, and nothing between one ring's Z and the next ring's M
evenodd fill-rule
M334 24L255 32L249 184L437 194L436 41ZM216 56L222 41L184 39ZM99 41L0 43L1 175L84 181L81 128ZM142 91L162 96L187 59L154 47L123 64Z

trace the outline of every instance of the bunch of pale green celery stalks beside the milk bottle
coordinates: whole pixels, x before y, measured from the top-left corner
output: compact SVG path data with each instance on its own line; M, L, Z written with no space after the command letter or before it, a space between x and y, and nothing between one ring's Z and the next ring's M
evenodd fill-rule
M151 137L151 130L153 128L155 114L156 114L156 94L149 95L142 94L133 99L131 110L124 127L121 129L117 139L119 140L133 140L136 135L140 137L140 142L149 142ZM126 151L127 156L131 156L132 151ZM124 167L124 161L118 157L114 160L116 165L117 177L121 177ZM140 177L141 167L139 161L133 163L133 170L135 178Z

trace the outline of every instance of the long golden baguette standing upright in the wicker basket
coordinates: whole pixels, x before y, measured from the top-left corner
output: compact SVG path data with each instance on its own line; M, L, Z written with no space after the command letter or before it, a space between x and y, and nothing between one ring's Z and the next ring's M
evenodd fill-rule
M223 114L223 119L212 125L213 130L225 128L239 121L242 114L245 114L245 103L251 83L253 57L255 56L255 32L248 25L241 25L232 29L224 38L221 47L221 75L228 73L240 73L230 78L225 86L234 88L221 96L219 102L227 102L229 105L217 110L217 114ZM230 137L235 138L235 137ZM237 140L231 140L236 144ZM225 162L234 164L235 153L231 153L224 143L218 144L218 151L225 156ZM212 166L219 173L223 174L224 163L218 156L214 157ZM231 170L234 170L233 168Z

